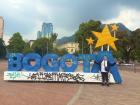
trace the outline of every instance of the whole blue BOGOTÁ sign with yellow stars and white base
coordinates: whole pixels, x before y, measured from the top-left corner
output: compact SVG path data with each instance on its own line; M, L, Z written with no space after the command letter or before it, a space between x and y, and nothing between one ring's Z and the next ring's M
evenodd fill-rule
M115 31L115 30L114 30ZM108 26L103 32L92 32L97 38L95 47L103 45L111 46L117 50L114 42L117 38L112 37ZM93 40L87 39L92 50ZM111 64L109 81L111 83L121 83L116 61L112 51L100 51L97 54L79 54L78 56L66 54L62 57L56 54L46 54L44 57L36 53L23 55L21 53L11 53L8 59L8 71L4 72L4 80L9 81L59 81L59 82L101 82L100 64L104 56L107 56ZM31 64L34 61L34 64ZM94 63L91 63L94 61ZM69 64L70 63L70 64ZM83 66L83 70L77 71L78 65Z

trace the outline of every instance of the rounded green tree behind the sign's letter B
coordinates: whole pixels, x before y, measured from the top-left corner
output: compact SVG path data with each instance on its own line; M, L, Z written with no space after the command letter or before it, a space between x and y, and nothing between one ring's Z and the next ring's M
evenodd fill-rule
M14 33L9 40L9 45L7 46L9 52L12 53L22 53L25 46L25 42L19 32Z

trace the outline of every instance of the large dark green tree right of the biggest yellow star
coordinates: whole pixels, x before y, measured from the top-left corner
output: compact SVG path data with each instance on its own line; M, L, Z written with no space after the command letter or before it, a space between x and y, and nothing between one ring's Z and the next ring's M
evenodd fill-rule
M138 39L135 39L135 36L127 31L121 31L117 33L117 42L118 51L115 52L117 58L124 60L126 63L129 63L130 60L134 60L134 52L136 49L136 43Z

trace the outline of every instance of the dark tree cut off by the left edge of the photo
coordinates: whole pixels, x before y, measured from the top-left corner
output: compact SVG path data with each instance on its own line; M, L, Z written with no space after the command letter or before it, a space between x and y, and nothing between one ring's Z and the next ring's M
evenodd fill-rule
M6 57L6 46L3 39L0 38L0 58Z

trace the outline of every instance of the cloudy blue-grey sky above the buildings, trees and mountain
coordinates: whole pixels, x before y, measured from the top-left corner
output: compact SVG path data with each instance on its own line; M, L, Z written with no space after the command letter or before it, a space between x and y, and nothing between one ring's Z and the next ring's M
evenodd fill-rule
M90 19L121 22L135 30L140 27L140 0L0 0L0 16L6 41L15 32L36 39L43 22L52 22L59 38L72 35Z

